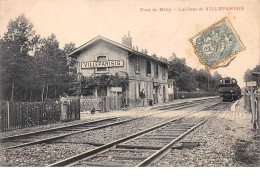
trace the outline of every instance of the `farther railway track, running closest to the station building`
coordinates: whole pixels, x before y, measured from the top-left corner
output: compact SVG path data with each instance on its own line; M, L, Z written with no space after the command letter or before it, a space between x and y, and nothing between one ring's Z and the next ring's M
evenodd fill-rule
M155 113L150 113L148 115L144 116L139 116L137 118L119 118L119 117L110 117L110 118L105 118L105 119L99 119L99 120L93 120L89 122L84 122L84 123L79 123L79 124L74 124L74 125L68 125L68 126L62 126L62 127L57 127L57 128L52 128L52 129L47 129L47 130L41 130L41 131L36 131L36 132L31 132L31 133L25 133L25 134L20 134L20 135L15 135L15 136L8 136L4 138L0 138L0 143L4 148L1 150L8 150L8 149L13 149L13 148L18 148L18 147L23 147L23 146L28 146L28 145L35 145L35 144L41 144L41 143L47 143L51 142L54 140L58 140L70 135L75 135L79 133L84 133L88 131L94 131L106 127L111 127L115 125L120 125L123 123L131 122L133 120L137 120L140 118L144 118L147 116L155 115L155 114L160 114L160 113L165 113L168 111L172 110L179 110L179 109L184 109L188 108L194 105L202 104L205 102L212 101L213 99L206 99L206 100L196 100L195 102L183 102L183 103L177 103L177 104L171 104L164 109L159 110L164 110L163 112L155 112ZM167 110L166 110L166 109Z

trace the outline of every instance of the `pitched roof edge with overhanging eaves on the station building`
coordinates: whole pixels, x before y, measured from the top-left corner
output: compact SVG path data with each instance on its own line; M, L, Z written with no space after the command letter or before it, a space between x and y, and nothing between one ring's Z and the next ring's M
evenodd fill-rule
M119 48L122 48L122 49L124 49L124 50L126 50L126 51L129 51L130 53L133 53L133 54L136 54L136 55L139 55L139 56L143 56L143 57L145 57L145 58L147 58L147 59L154 60L154 61L156 61L156 62L160 62L160 63L163 63L163 64L168 64L168 63L167 63L166 61L164 61L164 60L161 60L161 59L156 58L156 57L153 57L153 56L149 56L149 55L147 55L147 54L145 54L145 53L142 53L142 52L138 52L138 51L136 51L136 50L134 50L134 49L132 49L132 48L130 48L130 47L124 45L124 44L115 42L115 41L113 41L113 40L107 39L107 38L102 37L102 36L100 36L100 35L97 36L97 37L95 37L95 38L93 38L92 40L88 41L87 43L85 43L85 44L79 46L79 47L76 48L74 51L72 51L71 53L69 53L68 56L69 56L69 57L75 57L75 56L77 56L78 54L80 54L82 51L84 51L88 46L90 46L91 44L93 44L93 43L95 43L95 42L97 42L97 41L100 41L100 40L103 40L103 41L105 41L105 42L108 42L108 43L110 43L110 44L112 44L112 45L115 45L115 46L117 46L117 47L119 47Z

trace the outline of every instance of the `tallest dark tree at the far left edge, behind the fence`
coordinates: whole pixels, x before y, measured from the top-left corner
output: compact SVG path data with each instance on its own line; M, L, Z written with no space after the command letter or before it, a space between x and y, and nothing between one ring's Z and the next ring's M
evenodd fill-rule
M27 90L25 79L30 75L31 55L36 48L39 36L33 30L33 24L20 15L10 20L7 32L1 40L1 86L5 99L22 99ZM25 81L26 80L26 81ZM26 96L26 94L25 94Z

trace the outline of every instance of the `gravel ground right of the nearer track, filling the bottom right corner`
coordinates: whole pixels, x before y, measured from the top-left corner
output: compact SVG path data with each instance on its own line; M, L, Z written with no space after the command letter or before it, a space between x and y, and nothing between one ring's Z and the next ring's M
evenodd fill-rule
M180 141L180 144L199 142L200 146L171 150L153 166L259 167L259 140L252 139L250 120L251 115L243 109L235 112L226 110L220 116L212 116ZM246 148L247 145L249 147ZM246 150L248 154L245 154Z

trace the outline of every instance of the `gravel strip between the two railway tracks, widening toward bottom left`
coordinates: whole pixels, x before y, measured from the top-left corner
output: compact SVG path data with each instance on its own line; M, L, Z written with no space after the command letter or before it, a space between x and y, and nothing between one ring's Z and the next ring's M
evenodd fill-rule
M164 120L165 118L145 117L117 126L72 135L52 144L31 145L1 151L3 158L0 166L47 166L60 159L94 148L94 145L89 145L91 142L107 143L161 123Z

